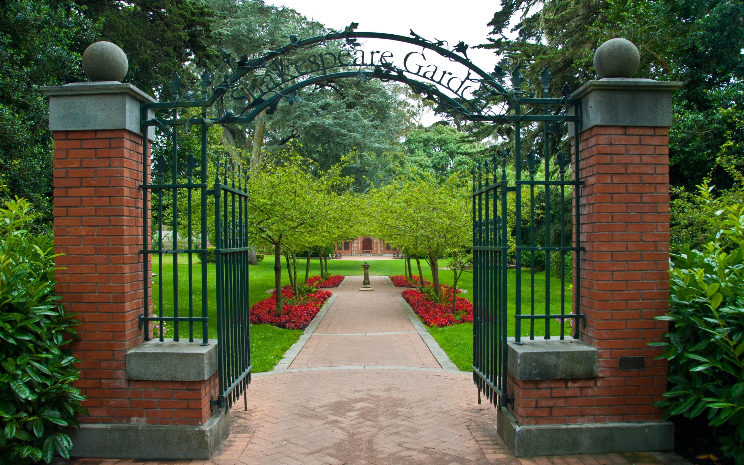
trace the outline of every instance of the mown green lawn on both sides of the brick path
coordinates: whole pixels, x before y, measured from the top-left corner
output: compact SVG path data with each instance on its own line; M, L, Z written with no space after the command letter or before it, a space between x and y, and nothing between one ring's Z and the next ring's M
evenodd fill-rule
M403 260L371 260L370 261L370 274L371 275L403 275L404 263ZM301 279L304 279L304 260L300 262L301 266L298 268L298 275L301 275ZM416 267L415 262L413 263L414 269ZM432 272L426 263L422 263L424 278L431 280ZM328 263L328 271L333 275L362 275L362 261L356 260L330 260ZM155 258L153 260L153 272L158 273L158 261ZM513 285L516 272L515 270L509 270L508 280L510 285ZM187 256L179 257L179 315L188 315L189 313L189 277L188 277L188 265ZM318 260L312 260L310 265L310 275L320 274L320 268L318 266ZM201 289L201 275L202 265L199 260L193 262L192 272L192 286L193 286L193 301L191 308L193 308L194 315L201 315L202 312L202 289ZM162 281L159 279L162 278ZM249 288L248 298L250 304L254 304L257 301L263 300L268 297L266 289L273 289L274 287L274 259L273 257L266 257L265 260L258 263L256 266L251 266L249 269ZM215 272L214 265L210 264L207 266L207 307L209 315L209 336L214 338L217 337L217 315L216 307L214 302L215 292ZM443 284L452 286L452 272L449 270L440 270L440 281ZM173 315L173 258L171 256L163 257L163 273L158 273L158 277L153 278L153 302L155 303L155 311L158 309L159 299L159 286L162 283L163 290L163 306L164 316ZM286 266L283 263L282 283L289 283L286 276ZM465 294L461 294L462 297L472 301L472 274L464 273L461 279L458 281L458 288L467 291ZM560 303L560 283L557 279L551 279L551 312L559 312ZM510 287L513 289L513 287ZM571 292L570 289L566 289L565 292L566 307L570 311L571 307ZM537 273L535 276L535 305L536 313L545 312L545 273ZM507 309L509 312L508 318L508 330L510 335L514 334L514 293L513 290L507 297ZM529 272L522 272L522 312L527 313L530 311L530 275ZM168 325L170 326L170 325ZM568 329L568 323L566 324L566 334L570 333ZM469 371L470 365L472 365L472 324L457 324L452 327L446 328L431 328L430 333L440 344L442 349L447 353L452 362L458 365L461 370ZM537 321L535 324L535 334L537 336L543 334L545 326L542 321ZM170 333L170 331L169 331ZM522 324L522 336L529 334L529 324ZM179 334L183 338L189 336L187 324L180 324ZM286 352L289 347L297 341L302 334L300 330L283 330L277 327L272 327L266 324L254 324L251 325L251 357L254 365L254 372L259 373L260 371L269 371L271 368L281 359L283 353ZM556 321L551 321L551 334L559 334L559 327ZM201 339L201 325L194 325L194 339Z

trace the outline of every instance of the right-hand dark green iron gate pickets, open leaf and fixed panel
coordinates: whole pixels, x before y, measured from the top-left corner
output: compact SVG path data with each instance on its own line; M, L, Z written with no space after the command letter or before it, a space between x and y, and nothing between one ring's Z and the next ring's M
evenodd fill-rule
M565 320L574 320L572 337L579 338L579 321L583 315L577 313L579 309L579 260L574 260L574 305L576 311L571 314L565 312L565 254L583 250L579 243L579 234L574 234L573 245L565 243L566 231L580 231L579 213L579 189L582 182L579 180L579 124L581 115L580 100L568 98L568 92L564 90L562 98L533 98L524 90L520 90L522 77L519 71L512 74L513 91L516 94L516 104L513 106L511 124L514 129L513 160L514 175L513 184L507 179L507 159L512 158L507 150L499 155L493 155L491 162L484 161L472 170L472 236L473 236L473 380L478 386L478 403L481 403L481 392L494 405L506 405L511 399L506 391L507 382L507 343L509 341L509 313L514 311L514 343L522 344L522 321L529 321L529 328L525 328L530 339L535 338L535 322L544 321L545 331L542 337L551 339L551 319L557 318L560 327L559 338L564 339ZM551 77L547 68L540 79L543 84L542 94L548 95L548 83ZM564 88L565 89L565 88ZM527 109L527 111L524 111ZM572 110L572 111L570 111ZM542 147L527 147L529 153L522 154L523 135L527 124L542 125L539 133L539 141ZM561 134L557 130L559 125L569 124L573 126L573 149L574 160L571 170L572 180L565 179L565 173L571 164L569 155L557 150L551 153L550 138L553 134ZM569 129L571 131L571 129ZM542 153L539 157L537 153ZM542 160L540 159L542 158ZM536 179L539 173L539 164L542 161L542 177ZM551 162L557 165L557 177L552 179ZM524 166L527 164L527 167ZM527 175L528 176L523 176ZM522 186L530 188L530 219L528 241L525 240L522 231ZM543 245L538 246L536 231L536 187L541 187L545 193L545 219ZM574 222L571 215L565 215L565 187L574 187ZM558 218L560 244L551 244L551 187L559 190ZM514 208L507 207L507 195L513 193L515 197ZM507 218L510 214L514 216L514 227L510 231ZM513 237L515 246L513 265L507 260L509 252L510 236ZM530 270L530 289L528 307L525 312L522 295L522 252L529 255L530 262L526 265ZM545 254L545 302L542 309L536 306L536 258L538 254ZM551 306L551 263L555 263L554 257L559 257L560 263L560 300L557 311ZM513 277L510 269L514 270ZM513 297L513 307L510 304ZM571 298L571 295L568 296ZM551 308L553 307L553 308ZM498 396L498 403L494 396Z

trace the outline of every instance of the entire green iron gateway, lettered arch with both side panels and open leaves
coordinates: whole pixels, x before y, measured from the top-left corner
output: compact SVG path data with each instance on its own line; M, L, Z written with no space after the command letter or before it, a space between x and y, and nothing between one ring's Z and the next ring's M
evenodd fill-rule
M571 240L568 243L566 240L566 231L571 230L571 214L565 214L566 201L563 195L566 187L577 187L580 182L575 169L571 170L574 179L565 179L570 164L568 157L556 150L551 152L551 147L557 147L551 141L559 140L565 134L566 124L571 126L573 123L572 130L574 136L577 136L575 123L580 121L579 101L569 99L565 87L562 98L547 97L551 82L547 68L539 79L542 82L542 97L545 98L535 98L528 80L527 85L520 88L522 77L519 69L512 72L513 87L507 89L504 86L507 73L499 66L493 72L478 68L467 57L468 45L464 42L451 45L444 40L425 39L414 31L411 31L410 36L359 32L356 31L358 26L358 23L352 22L343 31L331 31L307 39L290 35L289 42L283 47L252 58L243 54L240 59L236 59L223 51L221 83L212 87L209 74L205 71L199 83L200 92L184 91L178 75L174 73L171 81L173 101L142 106L143 130L157 126L172 148L170 161L158 158L153 164L155 184L142 186L144 198L147 199L152 193L157 202L157 205L144 208L143 214L145 224L151 210L156 219L152 227L156 233L152 246L148 241L150 233L147 230L144 233L146 247L143 250L143 260L147 263L150 255L155 255L158 260L158 295L153 303L155 310L152 315L149 313L147 275L143 278L145 309L148 310L140 320L146 328L146 337L150 322L156 323L158 328L162 328L164 323L171 323L173 339L179 340L180 337L185 337L182 333L188 333L189 340L193 340L194 328L201 327L202 344L209 344L208 321L213 307L210 307L212 304L208 301L208 272L205 264L208 257L208 234L205 233L208 231L210 218L214 218L214 253L217 261L217 298L214 311L219 339L219 399L215 403L229 407L243 393L250 381L251 372L248 330L248 196L243 187L246 179L240 167L226 161L217 164L216 182L208 185L208 126L248 124L259 115L272 115L280 104L302 103L299 92L307 87L317 89L332 83L364 83L371 79L396 81L410 87L426 100L432 100L440 111L456 115L462 121L507 124L513 127L513 153L504 152L501 160L494 157L490 164L484 163L482 167L478 167L473 176L472 193L475 321L473 373L479 399L481 392L485 392L492 402L494 394L500 396L502 402L506 402L504 387L507 334L512 331L507 315L511 308L516 312L516 343L520 342L523 330L527 331L525 336L533 338L536 326L539 330L541 322L545 327L543 337L550 338L551 318L556 317L561 321L573 320L573 337L578 337L580 315L565 312L565 301L571 298L570 295L565 295L565 273L559 273L559 302L555 304L551 303L551 285L554 284L551 283L550 276L554 257L563 259L565 254L580 250L578 243L571 244ZM394 59L391 51L368 50L365 53L364 44L359 39L408 44L412 51L397 59ZM444 65L439 62L446 69L429 64L424 51L430 51L446 60ZM431 54L429 56L432 57ZM461 68L458 71L453 66ZM212 89L211 93L208 92L209 89ZM336 92L339 92L338 89ZM213 109L212 118L208 118L210 108ZM153 118L150 112L161 113ZM196 156L184 156L184 151L179 151L179 132L189 132L193 125L201 126L201 149L196 150L199 152ZM542 132L536 131L535 125L542 125ZM529 137L526 136L527 133L530 134ZM540 144L542 148L537 147ZM522 155L522 145L529 146L527 148L530 149L530 155ZM193 147L193 144L189 147ZM574 138L574 147L578 153L577 137ZM147 174L147 150L144 150L143 157L144 174ZM510 160L515 163L515 176L511 180L506 170L507 161ZM523 166L525 161L528 164L526 171ZM557 172L551 168L553 163L557 166ZM498 170L499 166L501 170ZM193 178L198 178L199 182ZM522 227L525 218L522 188L525 186L530 190L528 195L531 202L530 226L526 229ZM553 192L554 189L557 189L556 193ZM516 208L511 208L511 214L515 218L514 224L519 225L513 231L509 230L510 208L507 207L511 192L516 198ZM574 193L574 205L577 208L579 199L576 189ZM544 217L536 217L539 213L540 195L542 202L548 205ZM553 196L558 199L553 199ZM556 219L551 217L554 203L559 205L559 239L551 243L551 237L556 235L553 234ZM208 213L210 208L214 209L212 214ZM578 228L578 216L574 217L574 227ZM540 226L536 228L538 222ZM167 246L165 231L170 231L170 247ZM179 246L178 231L186 238L183 247ZM510 246L511 241L514 241L513 246ZM516 253L516 257L510 265L507 256L512 252ZM524 259L523 253L526 253ZM179 272L183 272L179 271L179 260L183 260L183 256L187 260L187 284L179 285ZM169 257L171 263L164 263L164 257ZM193 272L193 257L202 257L200 273ZM525 260L530 267L528 285L522 278L522 269L527 266ZM537 286L536 281L540 279L536 267L539 267L541 261L545 263L547 277L543 278L544 289ZM559 263L561 264L555 266L560 266L565 271L565 260L560 260ZM172 269L167 280L164 278L164 267ZM516 271L512 273L510 269ZM574 269L573 272L577 282L579 270ZM172 291L164 286L166 282L171 283ZM181 286L187 287L185 297L179 295ZM526 300L523 289L529 289ZM169 292L167 298L164 295L166 290ZM542 303L539 297L541 292L548 296L542 298ZM578 298L577 293L576 304ZM185 316L185 310L188 316ZM529 326L523 326L522 320L527 320ZM182 324L187 324L187 330ZM564 325L559 326L562 328ZM559 330L558 336L564 337L564 331ZM163 340L162 331L158 334Z

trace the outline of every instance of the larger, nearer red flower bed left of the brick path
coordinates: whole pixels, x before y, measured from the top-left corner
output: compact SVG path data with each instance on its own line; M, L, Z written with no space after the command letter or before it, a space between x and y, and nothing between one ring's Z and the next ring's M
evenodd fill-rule
M330 298L331 293L319 289L307 295L311 298L310 301L299 305L286 303L286 300L295 296L292 293L292 288L283 288L281 295L283 300L283 312L281 315L275 315L277 299L275 295L272 295L263 301L253 304L250 312L251 324L268 323L273 324L275 327L286 328L288 330L304 330L310 324L312 318L318 315L324 302Z

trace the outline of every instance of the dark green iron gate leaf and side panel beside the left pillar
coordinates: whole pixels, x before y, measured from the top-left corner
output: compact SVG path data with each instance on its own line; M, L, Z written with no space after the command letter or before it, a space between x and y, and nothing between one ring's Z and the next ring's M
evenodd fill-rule
M160 155L152 164L153 184L141 186L148 200L143 208L144 225L152 217L152 225L144 228L143 265L147 270L148 258L154 256L158 272L153 273L152 312L150 278L144 273L144 313L139 321L146 341L150 340L152 322L153 334L160 341L171 337L166 333L172 330L174 341L187 338L193 342L196 329L196 339L200 333L201 344L208 345L212 314L217 320L216 332L212 331L217 336L219 376L219 395L212 405L230 408L251 382L248 177L228 155L217 155L214 183L208 184L207 129L212 122L207 118L211 102L206 97L210 83L205 71L200 83L202 99L195 101L196 92L182 92L181 80L174 73L170 81L173 101L142 105L143 133L151 126L161 129L164 143L170 144L170 160ZM194 107L201 107L201 112L195 113ZM152 112L155 118L148 118ZM193 141L185 149L179 147L179 132L183 137L194 125L201 126L199 147L194 147ZM149 158L145 147L144 179L150 170ZM214 251L208 249L209 243L214 244ZM214 278L208 272L213 253ZM181 275L184 272L185 277ZM210 292L212 287L214 293Z

